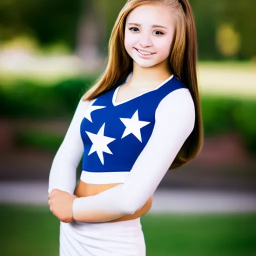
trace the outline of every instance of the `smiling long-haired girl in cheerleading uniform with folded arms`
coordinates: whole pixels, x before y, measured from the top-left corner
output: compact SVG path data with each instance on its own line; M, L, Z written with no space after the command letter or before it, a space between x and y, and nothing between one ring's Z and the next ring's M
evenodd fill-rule
M145 255L140 216L166 171L202 144L196 47L187 0L129 0L120 11L107 67L80 99L50 170L60 255Z

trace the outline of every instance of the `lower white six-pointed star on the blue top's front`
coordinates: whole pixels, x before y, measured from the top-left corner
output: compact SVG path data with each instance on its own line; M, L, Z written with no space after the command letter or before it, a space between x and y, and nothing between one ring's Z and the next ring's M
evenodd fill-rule
M88 155L96 151L98 158L102 164L104 164L103 152L113 154L110 151L110 149L107 147L107 144L115 140L115 138L104 136L104 127L105 127L105 123L101 126L97 134L94 134L85 130L89 139L92 142Z

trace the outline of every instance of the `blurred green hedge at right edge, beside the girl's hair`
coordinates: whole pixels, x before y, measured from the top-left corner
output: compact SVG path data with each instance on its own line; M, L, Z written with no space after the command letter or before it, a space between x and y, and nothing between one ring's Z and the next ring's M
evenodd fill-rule
M201 108L205 136L237 132L256 153L255 100L203 95Z

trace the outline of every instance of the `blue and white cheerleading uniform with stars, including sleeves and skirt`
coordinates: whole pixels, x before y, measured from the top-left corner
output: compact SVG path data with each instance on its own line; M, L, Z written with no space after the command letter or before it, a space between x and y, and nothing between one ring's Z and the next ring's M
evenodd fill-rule
M121 183L75 198L73 212L134 213L154 193L193 130L193 99L178 78L171 75L154 89L116 102L122 84L96 99L79 101L53 159L48 192L58 188L73 194L82 155L82 181ZM61 222L60 255L144 256L140 218Z

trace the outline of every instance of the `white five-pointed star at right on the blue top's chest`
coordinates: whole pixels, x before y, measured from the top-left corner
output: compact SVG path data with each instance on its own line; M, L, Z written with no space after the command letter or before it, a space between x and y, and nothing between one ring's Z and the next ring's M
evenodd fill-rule
M150 122L139 121L138 110L136 110L136 112L132 115L131 118L120 118L120 120L123 122L123 124L126 127L121 138L132 133L140 142L142 142L140 128L146 126Z

